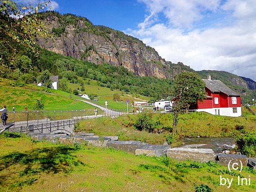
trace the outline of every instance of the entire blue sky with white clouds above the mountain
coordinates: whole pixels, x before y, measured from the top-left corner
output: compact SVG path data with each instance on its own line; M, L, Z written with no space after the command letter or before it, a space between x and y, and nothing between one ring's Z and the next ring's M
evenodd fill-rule
M256 80L255 0L54 0L51 5L137 37L167 61Z

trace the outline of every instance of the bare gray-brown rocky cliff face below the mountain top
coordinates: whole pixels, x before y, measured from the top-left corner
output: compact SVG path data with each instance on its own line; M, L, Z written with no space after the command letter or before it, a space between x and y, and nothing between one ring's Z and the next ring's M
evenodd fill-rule
M106 62L123 66L139 76L169 77L163 70L166 68L165 60L139 39L103 26L93 26L80 17L76 19L73 23L63 25L61 15L49 14L44 18L44 23L55 36L49 41L38 39L38 45L97 64Z

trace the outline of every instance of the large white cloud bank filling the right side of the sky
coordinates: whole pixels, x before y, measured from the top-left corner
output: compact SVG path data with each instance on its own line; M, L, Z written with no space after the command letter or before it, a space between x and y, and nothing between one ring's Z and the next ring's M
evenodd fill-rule
M149 13L138 30L127 33L154 47L160 56L195 70L224 70L256 80L254 0L139 1ZM167 23L161 22L160 13ZM197 29L200 22L204 28Z

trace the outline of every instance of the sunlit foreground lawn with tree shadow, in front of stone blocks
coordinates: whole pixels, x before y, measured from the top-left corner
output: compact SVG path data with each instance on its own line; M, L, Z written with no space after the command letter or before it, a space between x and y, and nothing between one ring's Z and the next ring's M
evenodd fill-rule
M233 178L229 191L256 189L255 170L216 163L177 162L87 145L0 136L0 191L225 191L220 176ZM238 185L238 176L250 185Z

